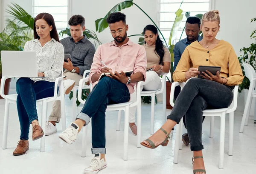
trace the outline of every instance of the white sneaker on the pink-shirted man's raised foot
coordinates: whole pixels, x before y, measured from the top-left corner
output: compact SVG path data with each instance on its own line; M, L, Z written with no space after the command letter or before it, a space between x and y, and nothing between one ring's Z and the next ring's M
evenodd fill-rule
M70 126L68 126L68 128L59 135L59 137L66 143L72 144L76 141L78 130L78 125L76 123L71 123Z

